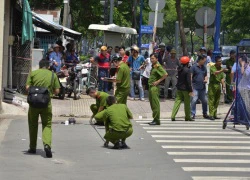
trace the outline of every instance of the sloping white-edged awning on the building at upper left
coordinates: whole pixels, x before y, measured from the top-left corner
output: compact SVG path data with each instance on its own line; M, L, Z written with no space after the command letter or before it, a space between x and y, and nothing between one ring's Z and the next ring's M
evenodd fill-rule
M72 29L61 26L59 24L56 24L52 21L49 21L41 17L40 15L36 14L35 12L32 12L32 15L33 15L33 23L37 27L50 31L58 36L64 35L76 40L80 40L82 37L81 33L73 31Z

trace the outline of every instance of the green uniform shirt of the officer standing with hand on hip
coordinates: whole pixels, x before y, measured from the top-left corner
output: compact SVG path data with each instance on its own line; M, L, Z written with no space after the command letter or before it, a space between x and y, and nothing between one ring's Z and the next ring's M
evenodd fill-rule
M152 69L148 80L148 85L152 86L153 82L158 81L165 74L167 74L167 72L163 69L163 67L159 63L152 65Z

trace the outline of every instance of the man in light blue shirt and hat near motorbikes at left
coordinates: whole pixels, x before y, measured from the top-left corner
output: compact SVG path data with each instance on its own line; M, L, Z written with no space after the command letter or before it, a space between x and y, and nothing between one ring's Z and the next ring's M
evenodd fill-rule
M60 72L61 71L61 66L62 66L62 53L60 53L60 46L58 44L55 44L53 46L54 52L52 52L49 55L49 60L50 60L50 65L53 67L53 70L55 72Z

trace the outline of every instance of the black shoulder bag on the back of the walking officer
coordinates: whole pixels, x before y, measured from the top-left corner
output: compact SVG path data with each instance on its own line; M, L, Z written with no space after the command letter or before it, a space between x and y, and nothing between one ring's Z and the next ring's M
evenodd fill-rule
M51 87L54 79L52 72ZM39 86L30 86L27 102L33 108L47 108L50 103L50 93L48 88Z

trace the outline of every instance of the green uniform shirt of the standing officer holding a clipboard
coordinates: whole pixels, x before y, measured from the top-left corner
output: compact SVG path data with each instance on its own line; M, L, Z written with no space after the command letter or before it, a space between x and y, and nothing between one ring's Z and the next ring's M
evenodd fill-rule
M121 81L120 83L116 83L117 88L130 88L130 69L124 62L121 62L118 68L116 80Z

